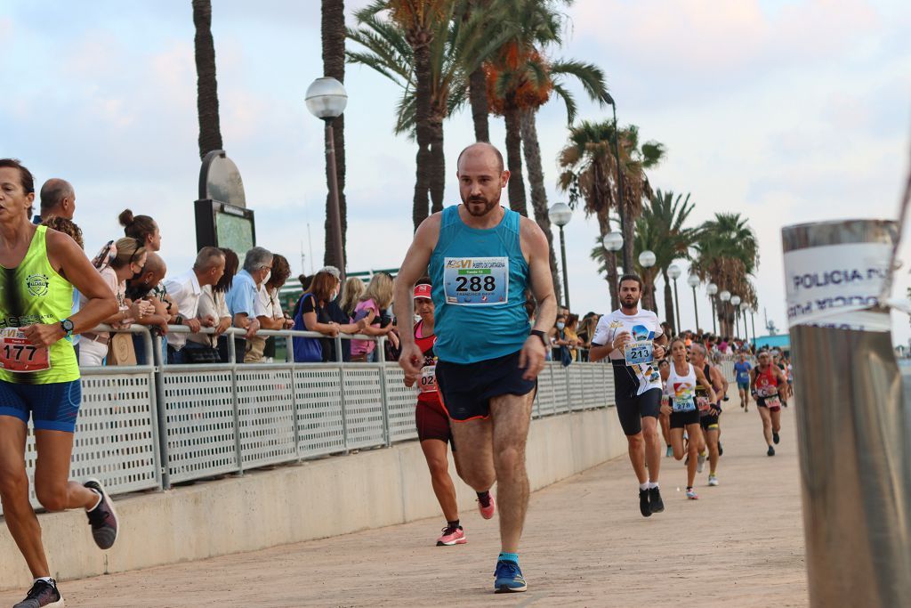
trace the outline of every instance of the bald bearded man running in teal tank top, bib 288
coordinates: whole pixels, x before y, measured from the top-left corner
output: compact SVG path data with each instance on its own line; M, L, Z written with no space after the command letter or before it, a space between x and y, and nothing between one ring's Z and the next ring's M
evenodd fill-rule
M528 506L525 446L546 332L557 315L548 241L537 223L500 206L509 171L496 148L468 146L459 155L457 176L463 204L418 227L395 282L395 315L413 317L411 294L429 265L436 382L453 420L455 458L485 519L494 515L490 488L496 481L502 552L494 589L524 592L518 544ZM530 334L527 288L538 306ZM399 365L419 374L424 359L412 326L399 324L399 331Z

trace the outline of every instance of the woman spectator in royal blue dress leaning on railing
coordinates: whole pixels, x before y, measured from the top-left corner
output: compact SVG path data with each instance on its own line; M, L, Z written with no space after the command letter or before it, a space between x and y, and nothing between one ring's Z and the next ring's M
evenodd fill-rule
M356 334L362 327L357 324L339 325L330 318L326 305L338 297L339 280L332 273L320 271L313 275L310 291L301 296L294 314L293 328L298 331L319 332L329 338L295 337L292 340L294 361L318 363L333 361L333 339L339 332ZM332 357L332 358L331 358Z

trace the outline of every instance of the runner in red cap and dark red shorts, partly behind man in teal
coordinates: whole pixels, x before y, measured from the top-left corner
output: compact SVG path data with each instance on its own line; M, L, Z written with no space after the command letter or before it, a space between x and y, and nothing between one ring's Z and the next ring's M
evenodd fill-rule
M421 442L436 500L440 503L446 525L443 534L436 540L437 547L466 543L465 531L459 525L458 503L455 500L455 484L449 476L449 461L446 444L452 441L449 415L446 413L440 393L436 388L436 356L434 345L434 301L431 299L429 277L423 277L415 285L415 313L421 320L415 324L415 343L424 354L419 374L405 374L405 386L418 389L415 424L417 438ZM453 444L455 450L455 444ZM457 468L457 465L456 465Z

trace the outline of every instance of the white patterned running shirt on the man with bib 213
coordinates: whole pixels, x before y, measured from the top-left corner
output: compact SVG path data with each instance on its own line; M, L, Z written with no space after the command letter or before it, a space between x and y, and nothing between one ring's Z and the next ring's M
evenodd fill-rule
M658 315L650 310L640 309L637 314L623 314L622 310L615 310L600 318L598 326L595 328L595 337L591 339L591 342L598 345L609 345L613 343L617 335L624 331L629 332L634 341L650 341L663 334L658 322ZM614 365L614 377L617 380L630 380L632 384L636 385L636 395L641 395L651 388L661 387L657 362L626 366L622 349L610 354L610 362ZM623 382L623 384L627 383Z

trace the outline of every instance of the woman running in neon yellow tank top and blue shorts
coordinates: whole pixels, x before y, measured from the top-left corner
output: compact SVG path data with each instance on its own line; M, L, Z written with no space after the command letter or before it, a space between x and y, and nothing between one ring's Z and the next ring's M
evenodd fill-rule
M6 526L35 577L27 605L62 606L28 500L27 423L31 417L41 463L37 499L47 510L86 509L96 543L109 547L117 516L101 484L68 481L81 399L69 337L118 306L76 242L29 222L34 202L32 174L17 160L0 159L0 498ZM74 285L88 301L70 316Z

